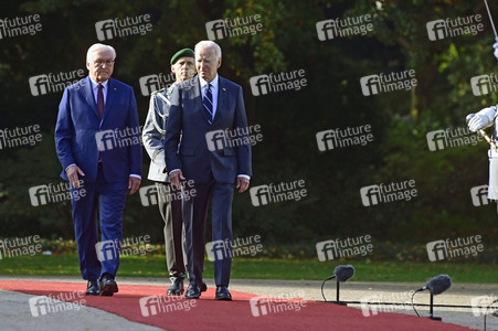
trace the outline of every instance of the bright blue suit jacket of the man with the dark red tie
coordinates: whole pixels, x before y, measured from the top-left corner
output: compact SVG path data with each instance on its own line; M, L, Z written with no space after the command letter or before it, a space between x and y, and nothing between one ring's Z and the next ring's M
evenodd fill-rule
M102 120L88 76L64 90L55 125L55 148L64 180L67 180L65 169L72 163L85 173L81 179L96 180L98 139L103 139L100 156L107 182L125 181L130 174L141 175L140 127L134 89L114 78L109 78L107 86Z

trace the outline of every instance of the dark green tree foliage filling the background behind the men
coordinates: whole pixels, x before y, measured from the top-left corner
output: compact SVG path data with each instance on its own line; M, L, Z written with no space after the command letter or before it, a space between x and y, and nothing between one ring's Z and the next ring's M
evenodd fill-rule
M498 14L498 3L490 6ZM86 50L98 42L95 22L148 13L151 32L107 41L118 54L113 76L135 88L144 122L149 98L140 94L139 77L169 73L176 51L206 39L205 22L259 14L263 32L216 41L223 50L220 74L243 86L248 121L262 126L264 140L253 148L252 185L304 179L308 195L254 207L248 192L235 194L235 237L261 234L267 247L292 245L304 252L317 242L364 234L417 247L479 234L485 247L497 245L496 205L476 207L469 193L487 183L486 143L432 152L426 141L428 131L463 127L467 114L497 103L496 93L476 97L469 84L473 76L496 72L494 35L481 1L8 0L0 11L2 18L38 13L43 24L35 35L0 40L0 128L38 124L43 130L35 147L0 150L1 237L74 238L70 202L30 203L30 186L61 181L53 131L62 93L32 96L29 77L86 72ZM318 40L317 22L367 13L373 18L372 33ZM428 40L428 21L478 13L484 32ZM251 94L252 76L301 68L308 84L300 90ZM411 68L416 88L362 95L362 76ZM318 131L361 125L372 126L372 143L318 151ZM144 177L148 162L144 152ZM415 199L361 204L360 188L411 179ZM142 186L150 184L142 181ZM138 194L128 199L124 222L125 236L149 234L162 241L157 209L142 206Z

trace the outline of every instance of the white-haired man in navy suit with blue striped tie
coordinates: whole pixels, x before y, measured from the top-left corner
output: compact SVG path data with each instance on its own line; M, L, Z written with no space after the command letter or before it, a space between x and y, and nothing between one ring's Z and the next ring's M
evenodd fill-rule
M232 200L234 186L247 190L252 175L242 87L218 75L221 49L212 41L195 45L198 76L174 86L165 136L166 164L171 184L193 180L195 196L183 201L190 285L186 298L201 296L204 233L211 197L214 245L223 246L214 261L216 300L232 300ZM221 137L221 140L220 140ZM243 143L241 143L243 141ZM214 252L214 250L213 250Z

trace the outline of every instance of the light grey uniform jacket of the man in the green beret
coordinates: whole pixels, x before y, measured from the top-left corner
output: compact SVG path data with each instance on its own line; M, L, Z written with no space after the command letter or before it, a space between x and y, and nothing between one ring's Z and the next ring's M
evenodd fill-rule
M169 182L166 171L165 134L168 122L169 106L173 85L160 89L150 96L149 113L141 134L144 147L150 157L148 179L157 182Z

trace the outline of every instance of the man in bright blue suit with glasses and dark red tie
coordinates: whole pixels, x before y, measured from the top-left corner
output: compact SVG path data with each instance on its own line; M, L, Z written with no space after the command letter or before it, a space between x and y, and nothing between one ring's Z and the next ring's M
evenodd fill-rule
M110 78L115 58L112 46L88 49L88 76L64 90L55 126L61 177L71 183L80 268L92 296L118 291L123 211L128 190L134 194L141 180L137 102L130 86ZM76 194L82 186L85 196Z

